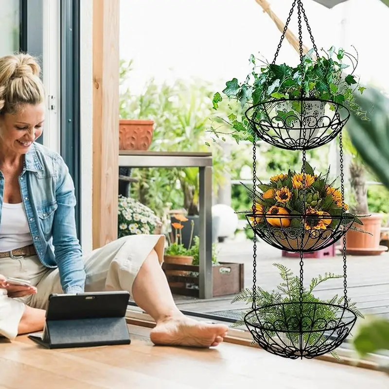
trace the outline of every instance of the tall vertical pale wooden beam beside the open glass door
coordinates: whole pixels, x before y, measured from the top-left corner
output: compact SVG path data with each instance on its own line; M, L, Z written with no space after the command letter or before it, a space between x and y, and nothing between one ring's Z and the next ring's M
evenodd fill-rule
M117 239L119 1L93 0L93 249Z

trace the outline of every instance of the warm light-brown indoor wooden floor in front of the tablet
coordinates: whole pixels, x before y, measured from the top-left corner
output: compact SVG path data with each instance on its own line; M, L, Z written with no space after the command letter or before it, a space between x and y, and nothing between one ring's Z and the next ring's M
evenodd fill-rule
M129 326L131 345L47 350L26 336L0 341L0 389L387 389L389 378L318 360L288 360L260 349L153 347L149 329Z

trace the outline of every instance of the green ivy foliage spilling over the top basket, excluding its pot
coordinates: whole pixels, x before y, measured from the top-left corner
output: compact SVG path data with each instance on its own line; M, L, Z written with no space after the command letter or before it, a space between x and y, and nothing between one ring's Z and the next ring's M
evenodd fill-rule
M328 51L321 49L323 54L315 56L314 49L303 57L302 64L292 67L286 64L269 64L250 55L251 72L244 82L237 78L227 81L226 88L213 95L212 107L219 113L226 112L224 117L217 116L212 120L211 131L216 138L226 134L225 126L230 129L228 135L237 142L253 140L245 111L249 106L275 99L296 99L292 103L292 114L301 112L299 97L304 92L306 97L335 102L347 106L363 120L367 120L366 111L361 110L354 98L354 91L363 93L364 87L359 85L359 79L354 75L358 63L358 53L355 55L333 46ZM350 62L350 64L346 63ZM352 67L349 74L344 70ZM222 109L221 109L222 107ZM334 106L330 106L335 109ZM294 111L294 112L293 112ZM278 112L278 114L280 114ZM287 117L290 112L285 112Z

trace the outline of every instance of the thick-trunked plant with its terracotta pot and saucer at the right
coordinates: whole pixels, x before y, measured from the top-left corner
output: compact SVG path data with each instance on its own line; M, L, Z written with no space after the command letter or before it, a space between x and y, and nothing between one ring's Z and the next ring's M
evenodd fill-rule
M355 198L353 212L366 215L362 218L363 230L366 234L361 234L355 230L346 233L346 249L351 255L380 255L388 248L380 246L381 223L383 214L376 212L369 214L368 195L366 186L366 165L360 158L347 132L343 136L343 144L347 153L351 157L350 161L350 185Z

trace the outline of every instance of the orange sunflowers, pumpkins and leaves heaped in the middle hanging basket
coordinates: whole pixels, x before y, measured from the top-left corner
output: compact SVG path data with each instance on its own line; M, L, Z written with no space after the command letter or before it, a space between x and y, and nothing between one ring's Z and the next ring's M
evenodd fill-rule
M266 184L260 181L258 188L262 193L254 195L250 190L255 202L255 214L251 212L253 217L250 220L255 228L298 229L302 220L305 230L336 228L339 220L333 217L341 216L349 207L342 201L342 194L333 186L334 182L329 182L329 173L330 169L323 176L316 175L309 163L305 162L305 175L289 169L287 174L270 177L270 182ZM307 217L303 219L298 215L302 215L304 210ZM349 217L341 222L349 224L352 216L353 223L363 224L355 215L347 215Z

